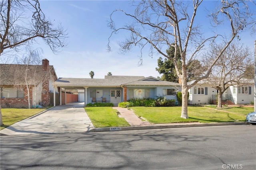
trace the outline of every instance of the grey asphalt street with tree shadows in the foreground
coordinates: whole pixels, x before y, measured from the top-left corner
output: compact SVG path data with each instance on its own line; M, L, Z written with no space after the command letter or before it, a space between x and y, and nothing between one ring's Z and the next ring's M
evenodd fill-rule
M256 126L1 136L1 170L256 169Z

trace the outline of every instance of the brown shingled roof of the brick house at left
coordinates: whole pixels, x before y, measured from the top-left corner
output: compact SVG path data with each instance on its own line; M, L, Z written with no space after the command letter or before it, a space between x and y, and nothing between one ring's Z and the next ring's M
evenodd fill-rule
M0 85L25 85L26 66L26 64L0 64ZM53 66L49 67L54 70ZM28 65L27 75L32 79L33 84L38 84L46 75L46 71L43 71L42 65Z

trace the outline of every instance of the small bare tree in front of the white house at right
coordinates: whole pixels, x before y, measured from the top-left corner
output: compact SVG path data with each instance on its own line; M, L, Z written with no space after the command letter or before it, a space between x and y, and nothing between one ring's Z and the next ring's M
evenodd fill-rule
M209 58L205 62L208 63L209 60L214 59L222 49L223 45L213 47L209 51ZM244 47L244 45L239 44L237 41L233 41L222 53L207 78L210 86L218 90L218 107L222 107L222 94L230 86L236 85L239 87L248 84L245 73L246 69L252 66L252 64L252 52L248 47Z

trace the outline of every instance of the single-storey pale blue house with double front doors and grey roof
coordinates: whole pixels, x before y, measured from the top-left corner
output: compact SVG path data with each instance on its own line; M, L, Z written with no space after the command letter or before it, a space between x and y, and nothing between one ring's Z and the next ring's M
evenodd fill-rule
M158 98L176 100L180 84L162 81L152 76L105 76L96 78L59 78L53 84L55 88L78 89L78 101L85 104L102 102L118 104L132 98ZM61 96L61 98L65 96Z

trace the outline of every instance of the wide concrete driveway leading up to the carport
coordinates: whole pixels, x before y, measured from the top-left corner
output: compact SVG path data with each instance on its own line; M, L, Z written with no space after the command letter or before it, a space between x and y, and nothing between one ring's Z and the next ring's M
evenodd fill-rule
M2 129L1 135L31 135L49 133L81 133L94 129L84 102L53 107L28 119Z

